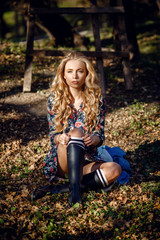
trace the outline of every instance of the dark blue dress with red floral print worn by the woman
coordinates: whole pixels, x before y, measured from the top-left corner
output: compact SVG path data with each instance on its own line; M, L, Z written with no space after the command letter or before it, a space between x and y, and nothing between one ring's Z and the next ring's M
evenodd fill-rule
M56 179L57 173L57 147L58 145L54 142L54 137L62 132L55 132L55 111L53 109L54 96L51 95L48 99L48 122L49 122L49 137L50 137L50 151L48 152L44 164L43 171L49 182ZM84 126L85 113L83 111L83 103L81 103L78 110L76 110L72 104L70 104L72 113L68 120L68 127L65 129L65 133L68 133L74 128L82 129L82 131L87 133L87 129ZM106 115L106 102L102 99L102 104L100 106L100 114L98 116L98 130L93 130L92 134L97 135L100 138L100 142L96 147L89 146L86 148L85 159L89 161L99 161L97 154L97 148L100 147L104 141L104 124Z

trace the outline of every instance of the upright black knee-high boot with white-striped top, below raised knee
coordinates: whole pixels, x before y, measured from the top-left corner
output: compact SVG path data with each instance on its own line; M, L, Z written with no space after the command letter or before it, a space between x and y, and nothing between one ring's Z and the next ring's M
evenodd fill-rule
M69 203L81 203L80 184L83 177L85 145L81 138L71 138L67 147L68 177L70 182Z

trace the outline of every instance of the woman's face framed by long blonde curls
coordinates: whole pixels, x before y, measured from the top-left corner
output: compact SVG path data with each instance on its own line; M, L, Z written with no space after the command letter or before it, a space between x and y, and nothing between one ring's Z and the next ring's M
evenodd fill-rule
M64 68L64 79L70 89L81 90L87 76L86 65L80 60L69 60Z

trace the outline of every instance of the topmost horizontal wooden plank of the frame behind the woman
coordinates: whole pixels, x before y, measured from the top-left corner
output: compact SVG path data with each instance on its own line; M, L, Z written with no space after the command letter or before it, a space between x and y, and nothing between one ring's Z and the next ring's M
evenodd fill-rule
M30 14L123 14L121 7L91 8L30 8Z

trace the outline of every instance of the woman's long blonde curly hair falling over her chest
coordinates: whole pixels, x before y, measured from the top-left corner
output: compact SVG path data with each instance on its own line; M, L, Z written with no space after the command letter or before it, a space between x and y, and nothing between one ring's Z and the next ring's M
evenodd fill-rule
M82 61L86 66L87 76L83 86L82 98L83 111L86 117L85 128L91 133L93 129L97 129L97 116L100 112L100 104L102 104L102 91L93 65L86 56L78 52L71 52L62 59L52 83L56 132L66 129L72 112L70 103L73 101L73 98L64 79L65 65L69 60Z

